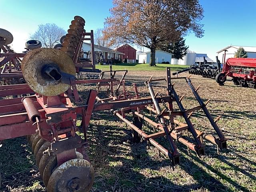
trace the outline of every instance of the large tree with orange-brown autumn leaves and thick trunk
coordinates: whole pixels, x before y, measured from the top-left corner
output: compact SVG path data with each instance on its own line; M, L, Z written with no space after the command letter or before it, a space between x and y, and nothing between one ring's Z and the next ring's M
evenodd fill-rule
M150 49L150 66L160 43L175 42L189 32L202 37L203 9L198 0L113 0L104 38L110 44L138 44Z

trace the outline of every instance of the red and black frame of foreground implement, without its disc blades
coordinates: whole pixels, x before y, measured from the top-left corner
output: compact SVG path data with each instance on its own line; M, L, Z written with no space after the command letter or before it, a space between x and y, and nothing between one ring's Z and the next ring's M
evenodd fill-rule
M110 78L104 79L104 73L110 72ZM116 72L124 72L122 79L114 78ZM166 157L170 158L172 166L180 163L180 153L178 153L176 142L180 142L188 147L188 149L196 152L198 156L204 155L203 138L216 144L217 151L226 148L226 138L224 138L216 122L220 118L213 120L208 112L206 103L197 93L198 88L194 88L190 78L171 78L170 68L166 68L166 78L152 79L146 81L145 84L150 92L150 97L140 98L136 84L134 84L134 95L127 94L125 89L124 76L127 71L113 71L110 66L110 71L102 73L100 79L97 80L74 80L70 78L70 89L58 96L42 96L35 94L24 98L12 98L0 100L0 140L26 136L29 134L40 134L40 137L51 142L51 147L48 148L50 155L56 154L58 165L70 159L76 158L76 151L83 154L84 159L89 160L86 154L86 148L89 147L86 138L87 129L90 118L93 112L101 110L112 110L113 113L125 122L134 134L134 139L138 141L146 140L148 144L152 144L162 152ZM182 106L183 96L179 98L172 84L172 79L185 79L188 86L192 90L199 106L187 109ZM167 96L162 96L158 92L154 93L154 84L156 81L165 81ZM81 102L78 95L76 84L98 83L100 86L108 86L110 90L109 98L98 98L96 90L90 90L87 102L85 105L73 106L71 98L75 102ZM114 84L115 83L115 84ZM120 95L114 95L114 85L117 85L117 90L123 86L123 91ZM28 94L33 91L27 84L0 86L0 97ZM95 100L98 103L95 104ZM173 102L178 104L178 110L174 110ZM164 108L160 105L164 106ZM212 124L219 138L194 128L190 121L192 114L196 110L202 109ZM150 114L155 114L154 120L147 117L143 110L147 110ZM127 114L132 113L133 121L131 122ZM82 116L81 127L76 126L77 115ZM182 116L185 123L175 119L176 116ZM154 133L147 134L144 132L142 123L153 127ZM76 134L76 131L82 131L84 140ZM184 136L184 131L192 134L194 142L189 141ZM136 137L136 138L135 138ZM158 142L158 138L166 138L168 148ZM138 140L139 139L139 140Z

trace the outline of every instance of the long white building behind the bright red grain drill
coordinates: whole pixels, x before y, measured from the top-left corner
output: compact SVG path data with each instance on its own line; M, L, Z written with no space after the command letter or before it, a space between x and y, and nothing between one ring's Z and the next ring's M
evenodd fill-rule
M218 60L220 60L221 63L224 63L224 53L226 52L226 59L234 57L235 52L242 47L247 52L248 58L256 58L256 47L249 47L249 46L234 46L230 45L227 46L221 50L219 50L218 53Z

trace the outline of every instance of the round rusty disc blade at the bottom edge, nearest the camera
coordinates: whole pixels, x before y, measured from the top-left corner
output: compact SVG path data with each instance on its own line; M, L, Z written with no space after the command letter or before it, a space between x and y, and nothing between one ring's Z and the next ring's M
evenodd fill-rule
M48 192L89 192L94 182L94 168L84 159L72 159L61 164L52 173Z

